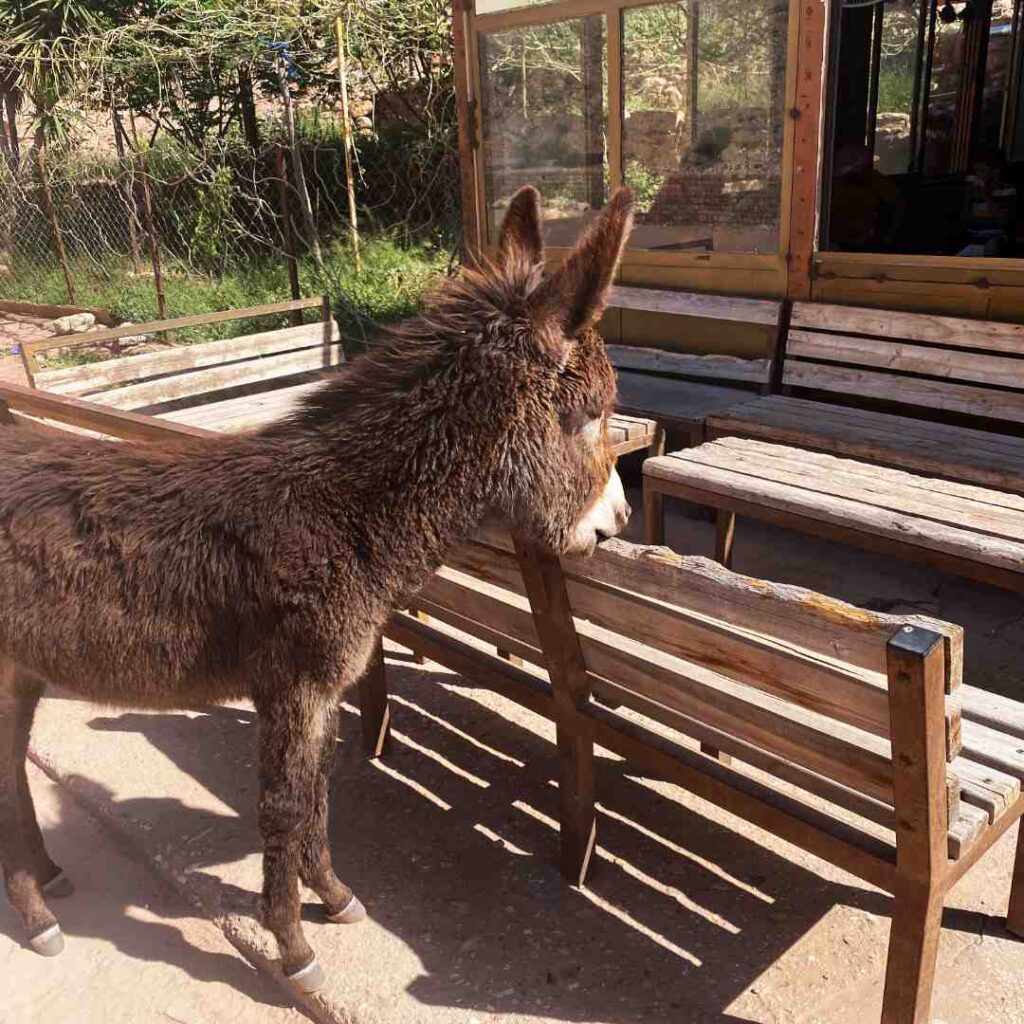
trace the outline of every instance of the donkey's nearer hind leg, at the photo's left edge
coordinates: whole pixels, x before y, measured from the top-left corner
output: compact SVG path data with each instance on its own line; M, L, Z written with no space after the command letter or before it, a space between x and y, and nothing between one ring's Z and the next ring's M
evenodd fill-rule
M56 865L42 846L25 777L29 728L39 692L38 684L29 682L13 663L0 658L0 861L4 887L11 906L22 915L33 949L53 956L63 948L63 936L43 898L42 885L48 880L41 872L48 873Z

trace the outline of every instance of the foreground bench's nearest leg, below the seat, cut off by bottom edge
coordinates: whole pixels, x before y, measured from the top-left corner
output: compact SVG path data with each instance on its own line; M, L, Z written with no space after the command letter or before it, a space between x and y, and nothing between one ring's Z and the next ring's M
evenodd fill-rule
M897 879L882 1024L928 1024L941 927L941 890Z

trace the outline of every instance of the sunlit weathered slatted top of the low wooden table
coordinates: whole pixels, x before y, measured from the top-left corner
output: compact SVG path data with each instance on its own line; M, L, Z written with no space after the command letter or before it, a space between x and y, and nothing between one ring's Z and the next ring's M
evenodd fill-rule
M1024 568L1024 499L1016 495L739 438L648 459L644 474L684 498L718 495L898 540L908 550L936 551L1011 574Z

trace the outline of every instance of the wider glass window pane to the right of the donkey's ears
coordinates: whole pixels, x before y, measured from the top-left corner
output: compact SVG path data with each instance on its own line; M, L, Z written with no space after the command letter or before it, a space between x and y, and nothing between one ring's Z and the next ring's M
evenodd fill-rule
M685 0L623 13L630 245L778 251L786 0Z

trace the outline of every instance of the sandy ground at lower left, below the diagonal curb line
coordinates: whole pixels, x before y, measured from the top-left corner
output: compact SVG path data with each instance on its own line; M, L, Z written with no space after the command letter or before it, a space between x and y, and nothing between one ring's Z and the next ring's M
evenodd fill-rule
M130 857L67 791L30 769L53 856L77 891L54 901L68 946L25 948L0 903L2 1024L300 1024L304 1014L254 971L219 929Z

